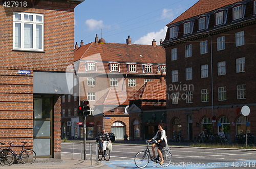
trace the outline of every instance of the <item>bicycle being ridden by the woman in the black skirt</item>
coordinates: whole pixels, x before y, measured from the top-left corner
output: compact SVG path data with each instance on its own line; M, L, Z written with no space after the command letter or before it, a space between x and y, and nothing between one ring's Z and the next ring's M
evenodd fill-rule
M159 163L159 161L161 161L161 158L159 155L157 155L157 158L153 158L150 154L150 150L148 149L148 146L152 143L156 143L156 140L154 140L153 142L148 142L148 140L146 140L146 148L144 151L140 151L138 152L135 157L134 157L134 162L136 164L137 167L139 168L144 168L147 166L147 164L149 163L150 159L153 162L157 162ZM148 156L148 154L150 156ZM161 166L168 166L170 164L170 162L172 162L172 153L170 152L170 149L162 149L162 154L163 154L163 160L164 162L161 163ZM150 158L149 158L150 157Z

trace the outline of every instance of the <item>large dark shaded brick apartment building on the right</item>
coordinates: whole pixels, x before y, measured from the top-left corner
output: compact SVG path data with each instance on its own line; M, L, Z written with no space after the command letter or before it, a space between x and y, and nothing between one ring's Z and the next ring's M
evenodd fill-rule
M256 1L200 0L167 24L168 137L256 133L255 23Z

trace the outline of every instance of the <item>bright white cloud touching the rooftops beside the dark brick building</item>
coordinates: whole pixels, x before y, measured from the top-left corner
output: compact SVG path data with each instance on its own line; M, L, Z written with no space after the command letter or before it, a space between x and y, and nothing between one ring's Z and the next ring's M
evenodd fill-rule
M146 34L145 36L136 40L134 43L135 44L151 45L153 39L155 39L155 41L157 41L157 44L159 45L160 39L162 39L162 41L164 40L165 35L166 35L166 31L167 31L167 26L165 26L163 29L161 29L158 32L150 32L150 33Z

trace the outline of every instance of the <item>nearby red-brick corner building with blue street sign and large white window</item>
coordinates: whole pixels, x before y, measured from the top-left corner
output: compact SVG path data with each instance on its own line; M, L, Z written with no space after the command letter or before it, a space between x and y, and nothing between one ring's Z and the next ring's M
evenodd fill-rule
M1 142L26 141L37 156L60 158L60 96L72 92L66 69L74 61L74 8L81 2L1 4Z

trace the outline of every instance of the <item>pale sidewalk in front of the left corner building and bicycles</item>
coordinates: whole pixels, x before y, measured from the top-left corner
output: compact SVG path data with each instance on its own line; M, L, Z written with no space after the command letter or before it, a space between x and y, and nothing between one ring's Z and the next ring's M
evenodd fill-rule
M98 162L91 160L81 160L81 159L71 159L71 158L61 158L61 159L53 159L53 158L37 158L33 164L23 164L17 163L12 164L11 166L3 166L0 164L0 168L9 168L9 169L44 169L44 168L67 168L67 169L75 169L75 168L98 168L103 166L102 162Z

